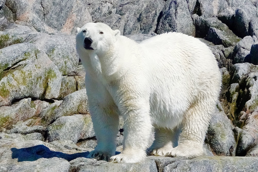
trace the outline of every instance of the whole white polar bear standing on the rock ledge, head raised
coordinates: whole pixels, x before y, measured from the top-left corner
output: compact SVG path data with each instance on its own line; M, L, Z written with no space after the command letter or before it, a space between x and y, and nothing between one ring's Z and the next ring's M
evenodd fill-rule
M77 28L77 53L97 146L91 158L134 163L150 155L197 157L220 92L221 74L197 38L169 32L141 43L104 23ZM119 115L123 151L115 155Z

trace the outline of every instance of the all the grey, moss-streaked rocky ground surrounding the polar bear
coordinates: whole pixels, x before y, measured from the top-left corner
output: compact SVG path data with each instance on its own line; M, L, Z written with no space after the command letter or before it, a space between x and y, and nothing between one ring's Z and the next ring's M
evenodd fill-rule
M1 0L0 171L258 171L257 7L257 0ZM135 41L178 31L211 48L223 87L206 156L86 158L96 139L75 34L92 21ZM122 144L121 119L117 153Z

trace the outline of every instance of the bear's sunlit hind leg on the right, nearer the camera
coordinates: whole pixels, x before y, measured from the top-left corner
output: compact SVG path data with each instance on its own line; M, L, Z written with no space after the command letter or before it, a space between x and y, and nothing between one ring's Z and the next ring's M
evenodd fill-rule
M215 101L207 99L199 99L190 107L182 122L178 146L169 150L167 156L195 158L204 154L203 142L214 107Z

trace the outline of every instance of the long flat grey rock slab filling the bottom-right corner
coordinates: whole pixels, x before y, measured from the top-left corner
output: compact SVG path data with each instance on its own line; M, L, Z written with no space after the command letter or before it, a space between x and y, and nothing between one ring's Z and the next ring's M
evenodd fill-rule
M197 157L179 160L164 168L164 172L200 172L200 171L250 171L258 170L257 157Z

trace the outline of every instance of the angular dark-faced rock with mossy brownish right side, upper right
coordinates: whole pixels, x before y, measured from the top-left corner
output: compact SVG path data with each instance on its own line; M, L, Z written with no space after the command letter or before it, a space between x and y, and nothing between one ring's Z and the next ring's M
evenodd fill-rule
M223 45L224 47L230 47L236 45L240 41L240 38L235 36L229 29L219 30L216 28L209 28L209 31L205 37L206 40L214 43L215 45Z

